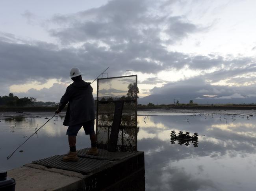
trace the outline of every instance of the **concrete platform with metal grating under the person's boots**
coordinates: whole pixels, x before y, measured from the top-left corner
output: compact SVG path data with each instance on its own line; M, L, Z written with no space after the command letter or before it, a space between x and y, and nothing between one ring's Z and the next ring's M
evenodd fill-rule
M99 149L98 156L78 151L78 162L62 162L61 155L35 161L7 172L16 180L16 191L143 191L144 152L111 153ZM42 165L43 164L43 165Z

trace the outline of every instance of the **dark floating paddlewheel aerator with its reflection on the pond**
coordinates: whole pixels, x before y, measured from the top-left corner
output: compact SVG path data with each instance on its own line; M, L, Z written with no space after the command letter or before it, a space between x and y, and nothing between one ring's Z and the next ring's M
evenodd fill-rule
M185 144L189 146L189 143L193 143L194 147L198 147L198 133L194 133L193 136L189 135L190 133L186 131L180 131L178 135L176 135L175 131L171 131L171 144L175 144L175 141L178 141L179 145Z

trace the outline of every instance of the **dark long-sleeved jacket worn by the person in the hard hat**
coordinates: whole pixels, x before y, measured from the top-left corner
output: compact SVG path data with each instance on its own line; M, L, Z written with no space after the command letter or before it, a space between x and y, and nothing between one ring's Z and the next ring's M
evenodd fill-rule
M59 103L59 111L68 104L64 126L82 124L95 119L95 101L90 83L78 79L70 84Z

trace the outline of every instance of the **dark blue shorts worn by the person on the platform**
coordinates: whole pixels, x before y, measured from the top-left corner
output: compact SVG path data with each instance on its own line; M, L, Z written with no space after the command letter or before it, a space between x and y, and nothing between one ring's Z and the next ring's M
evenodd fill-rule
M82 124L69 126L67 129L66 135L76 136L82 126L84 129L85 135L91 135L94 133L94 120L91 120L91 121L84 122Z

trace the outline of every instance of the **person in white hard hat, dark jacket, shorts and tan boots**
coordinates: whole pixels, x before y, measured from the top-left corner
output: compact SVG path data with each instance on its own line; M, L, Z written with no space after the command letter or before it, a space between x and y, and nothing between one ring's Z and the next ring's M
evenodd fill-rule
M67 113L63 122L64 126L69 126L67 135L69 136L69 154L62 158L63 161L77 161L76 135L83 126L86 135L90 135L91 149L87 151L89 155L98 155L96 134L94 131L95 102L93 98L93 88L90 83L82 80L81 72L77 67L70 70L70 77L74 81L70 84L65 94L62 96L59 107L55 113L60 113L68 103Z

